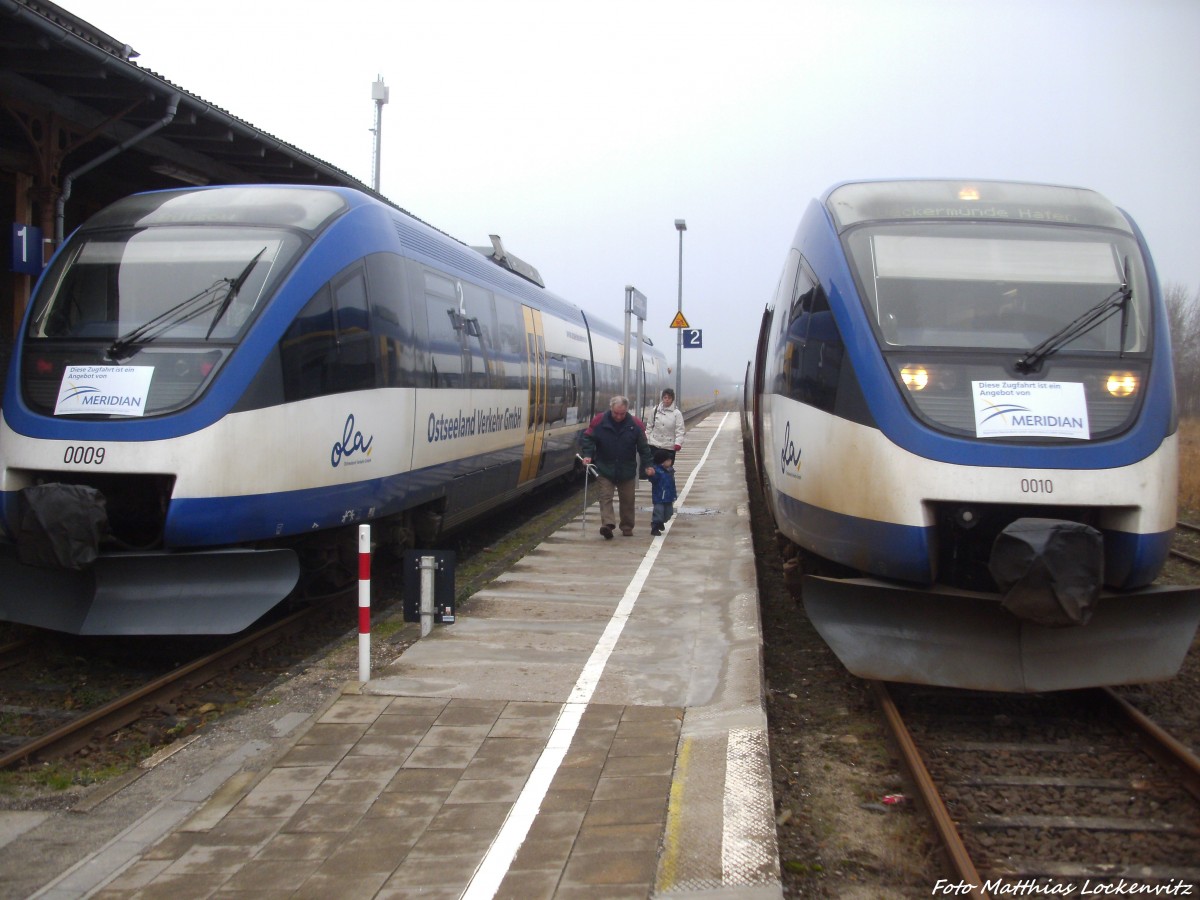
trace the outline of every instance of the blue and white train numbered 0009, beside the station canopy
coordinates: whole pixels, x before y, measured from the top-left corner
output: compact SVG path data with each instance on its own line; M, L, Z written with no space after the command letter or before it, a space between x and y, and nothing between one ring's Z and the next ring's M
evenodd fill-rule
M353 560L344 526L428 542L571 473L623 341L498 238L352 190L120 200L56 254L14 348L0 619L238 631L300 560ZM649 407L666 362L642 349Z

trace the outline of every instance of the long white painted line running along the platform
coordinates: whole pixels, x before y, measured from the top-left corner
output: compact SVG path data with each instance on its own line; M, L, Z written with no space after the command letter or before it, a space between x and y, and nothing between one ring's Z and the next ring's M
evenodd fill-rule
M730 414L726 413L720 425L716 426L716 431L713 432L713 438L708 442L708 446L704 448L704 454L700 457L700 462L696 463L696 468L691 470L688 484L684 485L683 493L679 494L680 506L688 492L691 491L700 469L708 461L708 454L712 451L713 444L716 443L716 438L728 418ZM600 640L593 648L587 664L584 664L578 680L575 682L575 688L571 689L570 697L563 704L562 710L559 710L558 721L554 722L554 730L551 732L546 749L541 751L541 756L538 757L538 764L534 766L529 780L526 781L526 786L521 791L521 796L517 797L516 803L512 804L512 809L509 810L508 818L504 820L500 833L496 835L487 854L480 862L479 868L475 869L470 883L462 894L462 900L491 900L491 898L496 896L496 892L499 890L500 882L504 881L504 876L509 872L509 866L512 865L517 851L521 850L526 835L529 834L529 827L538 816L538 810L541 809L541 802L546 798L550 784L554 780L554 775L563 763L563 757L566 756L566 750L580 727L580 720L583 718L583 710L587 709L588 701L592 700L592 695L600 683L600 676L604 674L605 666L608 665L608 658L617 647L620 632L634 612L638 594L641 594L642 586L646 584L646 578L649 577L650 570L654 568L654 560L659 558L659 552L662 550L662 539L671 530L672 522L674 522L673 518L666 522L662 534L650 541L650 546L642 558L642 564L634 572L629 587L625 588L624 596L617 604L617 610L613 612L612 618L608 619L608 624L605 626L604 634L600 635Z

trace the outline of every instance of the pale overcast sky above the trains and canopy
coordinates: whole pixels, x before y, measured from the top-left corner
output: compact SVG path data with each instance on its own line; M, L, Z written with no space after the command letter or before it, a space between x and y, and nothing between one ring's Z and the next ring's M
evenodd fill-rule
M809 199L862 178L1091 187L1200 292L1198 0L60 0L137 62L372 180L472 245L499 234L674 360L742 379ZM684 390L686 394L686 382Z

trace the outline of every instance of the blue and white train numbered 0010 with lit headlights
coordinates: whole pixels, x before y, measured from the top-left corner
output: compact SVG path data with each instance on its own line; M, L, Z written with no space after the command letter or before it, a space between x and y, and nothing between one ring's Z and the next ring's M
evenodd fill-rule
M1178 670L1200 590L1152 586L1177 492L1166 314L1106 199L833 187L748 380L788 572L852 672L1042 691Z

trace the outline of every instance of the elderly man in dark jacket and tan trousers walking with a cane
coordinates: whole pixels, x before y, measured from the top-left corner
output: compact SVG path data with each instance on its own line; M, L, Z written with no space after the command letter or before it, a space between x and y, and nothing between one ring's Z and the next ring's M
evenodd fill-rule
M595 466L600 473L596 491L600 498L600 534L612 540L617 518L612 510L612 494L620 504L620 533L626 538L634 533L634 492L637 490L637 469L650 475L654 458L646 443L646 431L637 419L629 414L629 400L616 396L608 401L608 412L596 415L583 432L584 466Z

